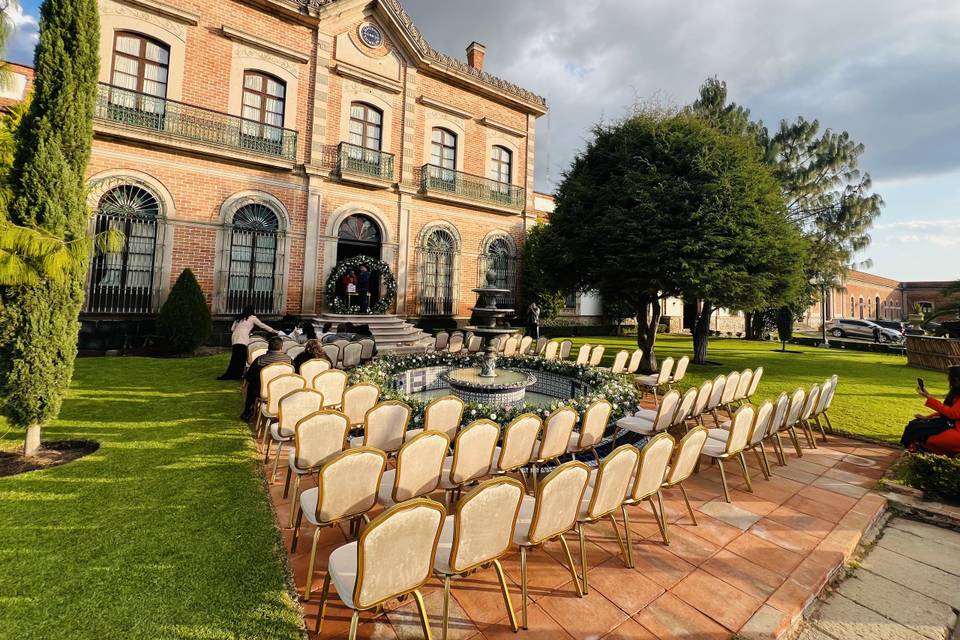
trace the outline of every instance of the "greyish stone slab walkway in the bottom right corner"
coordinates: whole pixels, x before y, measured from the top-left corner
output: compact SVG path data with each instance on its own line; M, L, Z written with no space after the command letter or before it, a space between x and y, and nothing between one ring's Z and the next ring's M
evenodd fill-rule
M800 640L945 640L960 609L960 533L891 520Z

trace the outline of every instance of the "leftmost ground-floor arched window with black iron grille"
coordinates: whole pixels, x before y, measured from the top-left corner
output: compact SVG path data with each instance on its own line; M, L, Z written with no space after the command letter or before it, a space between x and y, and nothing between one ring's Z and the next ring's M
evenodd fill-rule
M156 302L155 257L163 210L160 199L136 180L95 185L103 195L94 213L96 233L123 234L123 249L98 253L90 263L87 313L151 313Z

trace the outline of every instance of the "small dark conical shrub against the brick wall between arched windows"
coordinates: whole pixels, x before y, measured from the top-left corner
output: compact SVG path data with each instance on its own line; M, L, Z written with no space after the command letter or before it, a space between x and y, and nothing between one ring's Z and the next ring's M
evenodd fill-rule
M192 353L210 337L213 318L200 283L184 269L160 307L157 333L173 353Z

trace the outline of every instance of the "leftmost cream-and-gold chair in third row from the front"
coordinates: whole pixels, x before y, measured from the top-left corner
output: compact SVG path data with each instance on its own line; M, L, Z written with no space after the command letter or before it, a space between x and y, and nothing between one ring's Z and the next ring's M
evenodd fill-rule
M316 473L325 462L343 451L346 438L347 417L337 411L318 410L297 422L294 450L287 456L287 479L283 484L283 497L286 498L290 477L295 476L289 526L293 526L294 512L300 500L300 478Z

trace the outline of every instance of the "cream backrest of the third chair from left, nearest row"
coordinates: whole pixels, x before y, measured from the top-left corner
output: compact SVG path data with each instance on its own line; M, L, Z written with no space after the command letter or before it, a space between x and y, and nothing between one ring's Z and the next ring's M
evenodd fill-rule
M580 512L590 469L582 462L565 462L544 478L537 491L528 538L532 544L572 529Z

